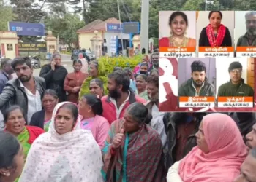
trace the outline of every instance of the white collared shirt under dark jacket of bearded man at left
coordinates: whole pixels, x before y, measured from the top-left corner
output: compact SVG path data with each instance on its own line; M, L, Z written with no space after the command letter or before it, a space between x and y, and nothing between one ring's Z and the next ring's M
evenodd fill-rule
M19 80L20 82L20 80ZM34 95L30 90L28 90L26 87L24 87L23 83L20 82L20 87L23 87L26 96L28 98L28 113L27 113L27 119L28 119L28 125L30 123L31 117L33 114L37 111L42 110L42 101L41 101L41 95L38 90L36 90L36 95ZM37 85L36 85L37 87Z

